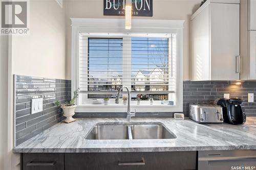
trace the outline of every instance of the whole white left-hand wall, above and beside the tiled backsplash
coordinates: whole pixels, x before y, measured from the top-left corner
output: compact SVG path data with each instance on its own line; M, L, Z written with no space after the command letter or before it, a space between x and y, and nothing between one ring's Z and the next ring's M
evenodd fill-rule
M29 9L30 35L12 36L10 42L0 36L1 170L20 169L20 154L12 153L13 74L66 79L64 9L54 0L30 0Z

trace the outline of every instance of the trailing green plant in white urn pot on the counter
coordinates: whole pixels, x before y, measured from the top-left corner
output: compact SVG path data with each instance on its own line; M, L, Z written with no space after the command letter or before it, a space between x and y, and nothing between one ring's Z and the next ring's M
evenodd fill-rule
M79 89L80 88L77 88L74 91L73 99L71 99L69 102L66 102L66 103L60 105L61 109L63 109L63 112L64 112L63 116L67 117L65 120L63 120L63 122L71 123L71 122L74 122L76 120L72 116L75 114L75 108L77 107L77 105L75 105L75 102L78 98Z

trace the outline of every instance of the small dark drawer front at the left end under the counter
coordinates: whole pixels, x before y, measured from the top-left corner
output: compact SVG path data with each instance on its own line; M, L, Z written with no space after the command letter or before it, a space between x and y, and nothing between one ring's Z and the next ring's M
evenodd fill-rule
M24 153L23 170L64 170L62 153Z

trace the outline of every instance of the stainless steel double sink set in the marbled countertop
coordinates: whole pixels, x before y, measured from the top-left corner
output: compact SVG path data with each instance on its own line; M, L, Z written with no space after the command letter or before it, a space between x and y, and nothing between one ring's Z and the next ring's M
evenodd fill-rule
M91 140L174 139L175 134L162 123L99 123L86 136Z

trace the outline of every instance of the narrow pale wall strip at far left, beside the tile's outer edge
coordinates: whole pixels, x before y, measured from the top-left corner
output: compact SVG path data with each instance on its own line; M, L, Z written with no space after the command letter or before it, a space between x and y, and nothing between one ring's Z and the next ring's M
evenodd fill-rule
M19 154L13 154L13 113L12 102L8 100L8 36L0 36L0 169L15 170L19 168ZM9 107L9 109L8 109Z

